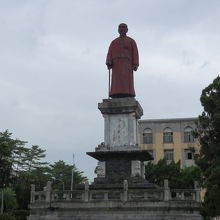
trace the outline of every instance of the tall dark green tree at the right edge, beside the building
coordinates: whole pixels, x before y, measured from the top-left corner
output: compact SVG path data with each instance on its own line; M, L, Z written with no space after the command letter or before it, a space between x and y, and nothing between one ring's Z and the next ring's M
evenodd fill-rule
M220 215L220 77L203 89L201 104L204 108L198 118L195 137L201 148L196 163L201 168L206 188L204 213Z

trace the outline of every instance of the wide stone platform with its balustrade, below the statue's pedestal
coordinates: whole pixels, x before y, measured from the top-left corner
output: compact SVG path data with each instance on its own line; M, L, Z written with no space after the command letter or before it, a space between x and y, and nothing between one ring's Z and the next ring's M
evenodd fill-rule
M112 185L113 186L113 185ZM95 189L31 192L28 220L202 220L199 189L151 189L124 184Z

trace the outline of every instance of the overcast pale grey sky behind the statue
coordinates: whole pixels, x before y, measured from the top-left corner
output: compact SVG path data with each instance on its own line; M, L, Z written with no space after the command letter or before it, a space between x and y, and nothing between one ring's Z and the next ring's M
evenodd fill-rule
M119 23L139 48L142 119L198 116L220 73L219 0L0 0L0 130L93 178L105 58Z

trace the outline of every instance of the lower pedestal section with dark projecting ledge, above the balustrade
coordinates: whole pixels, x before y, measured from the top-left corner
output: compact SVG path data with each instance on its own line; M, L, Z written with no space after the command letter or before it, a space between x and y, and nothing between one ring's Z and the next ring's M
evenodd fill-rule
M144 161L151 160L152 157L147 150L133 151L97 151L87 152L91 157L105 163L104 171L95 179L97 184L146 182L144 174ZM103 175L105 174L105 175Z

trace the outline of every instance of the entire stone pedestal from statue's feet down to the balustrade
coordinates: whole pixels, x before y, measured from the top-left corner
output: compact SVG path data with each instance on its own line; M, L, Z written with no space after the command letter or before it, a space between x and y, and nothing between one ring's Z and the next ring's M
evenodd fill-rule
M135 98L104 99L98 108L104 117L104 143L87 153L99 161L95 183L143 182L144 161L152 158L138 146L137 122L143 115L139 102Z

